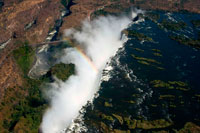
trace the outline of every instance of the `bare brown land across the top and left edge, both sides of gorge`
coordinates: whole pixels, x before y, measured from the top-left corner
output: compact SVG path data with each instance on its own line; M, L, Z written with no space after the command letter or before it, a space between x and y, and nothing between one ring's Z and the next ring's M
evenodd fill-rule
M3 4L2 4L3 3ZM199 0L73 0L71 14L63 18L59 34L78 27L84 19L100 9L120 12L130 6L142 9L200 13ZM8 88L16 92L23 88L24 77L13 58L12 51L27 40L29 44L44 42L65 7L60 0L0 0L0 100ZM21 91L22 93L25 92ZM0 112L3 119L3 114Z

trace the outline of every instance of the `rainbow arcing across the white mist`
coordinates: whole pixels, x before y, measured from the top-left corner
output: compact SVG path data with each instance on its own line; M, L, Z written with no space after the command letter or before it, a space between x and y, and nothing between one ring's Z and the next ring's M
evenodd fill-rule
M73 48L75 48L75 50L77 50L77 52L80 54L81 57L83 57L88 64L91 66L91 68L98 73L98 69L96 67L96 65L92 62L92 60L86 55L86 53L83 51L82 48L80 48L78 45L74 45L73 42L71 41L71 39L65 37L63 38L64 41L68 42L69 45L71 45Z

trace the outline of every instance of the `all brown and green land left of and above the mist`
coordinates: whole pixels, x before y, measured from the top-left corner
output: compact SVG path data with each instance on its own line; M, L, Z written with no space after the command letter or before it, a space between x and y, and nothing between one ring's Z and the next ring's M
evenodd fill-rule
M131 6L200 13L198 0L0 0L0 131L38 131L46 108L39 86L46 79L27 77L36 44L59 39L65 29L79 27L84 19Z

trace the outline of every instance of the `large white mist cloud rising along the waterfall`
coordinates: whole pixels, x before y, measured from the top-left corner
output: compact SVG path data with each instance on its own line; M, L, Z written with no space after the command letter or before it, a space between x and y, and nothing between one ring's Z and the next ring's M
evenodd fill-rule
M80 31L66 31L66 36L73 37L84 48L97 71L76 49L65 49L61 62L74 63L76 75L66 82L57 81L51 85L48 91L51 105L41 124L44 133L60 132L69 126L72 119L79 115L82 106L93 98L99 88L102 70L106 62L123 45L123 41L120 40L121 31L130 22L131 19L125 16L107 16L92 22L84 21Z

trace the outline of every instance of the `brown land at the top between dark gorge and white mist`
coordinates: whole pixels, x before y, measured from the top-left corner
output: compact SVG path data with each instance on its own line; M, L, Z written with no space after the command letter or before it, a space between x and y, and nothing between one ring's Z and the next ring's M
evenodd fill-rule
M130 7L129 0L74 0L73 2L75 4L70 8L72 14L64 18L64 23L60 30L61 32L65 29L79 26L84 19L90 20L90 15L99 9L109 8L110 11L114 10L111 5L117 5L122 8ZM115 8L115 12L120 12L120 10Z

